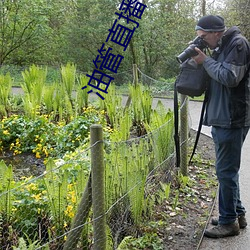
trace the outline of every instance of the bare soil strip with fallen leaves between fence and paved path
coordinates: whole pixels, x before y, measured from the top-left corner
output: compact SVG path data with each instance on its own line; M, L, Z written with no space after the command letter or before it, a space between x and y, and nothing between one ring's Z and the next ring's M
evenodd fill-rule
M191 138L195 138L191 131ZM190 146L193 146L193 139ZM160 228L164 250L199 249L203 232L215 204L217 179L215 175L214 144L210 137L201 134L194 163L189 166L188 176L192 180L185 188L179 188L179 200L176 209L173 202L158 207L166 214L167 227ZM198 155L198 156L197 156ZM172 190L172 187L171 187ZM174 200L176 194L172 195ZM169 199L171 200L171 199Z

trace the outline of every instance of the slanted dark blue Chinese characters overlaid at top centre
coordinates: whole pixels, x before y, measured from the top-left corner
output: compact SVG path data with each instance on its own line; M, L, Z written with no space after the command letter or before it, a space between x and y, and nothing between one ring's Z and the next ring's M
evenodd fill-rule
M135 30L139 27L138 21L135 21L134 19L141 19L146 7L145 4L138 0L122 0L119 7L120 12L115 13L118 18L114 21L111 29L109 29L109 34L105 42L107 43L110 41L118 44L123 47L123 51L126 51ZM119 20L121 19L125 20L126 24L133 24L134 27L131 28L120 24ZM116 74L122 60L124 59L120 54L113 54L112 48L108 47L106 43L103 43L101 48L97 50L98 55L95 60L93 60L95 69L92 72L92 75L87 74L90 78L87 85L92 87L87 93L89 94L95 89L95 93L102 100L104 100L102 93L108 93L107 89L111 84L111 81L114 80L114 77L104 73L103 70L108 70L111 73ZM92 84L92 81L95 83ZM82 87L82 89L86 88L87 86Z

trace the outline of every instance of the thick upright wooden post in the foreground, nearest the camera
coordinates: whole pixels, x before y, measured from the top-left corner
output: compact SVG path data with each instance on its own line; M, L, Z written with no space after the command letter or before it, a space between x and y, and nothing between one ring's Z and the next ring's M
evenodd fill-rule
M90 127L91 175L93 204L93 250L106 249L106 216L104 193L103 130L99 124Z

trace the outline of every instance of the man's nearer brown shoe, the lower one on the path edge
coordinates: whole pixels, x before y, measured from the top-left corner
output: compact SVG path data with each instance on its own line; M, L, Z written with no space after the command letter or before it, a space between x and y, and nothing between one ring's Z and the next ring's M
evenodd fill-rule
M210 229L206 229L204 235L209 238L224 238L228 236L235 236L239 235L240 227L238 222L234 222L232 224L218 224L215 227Z

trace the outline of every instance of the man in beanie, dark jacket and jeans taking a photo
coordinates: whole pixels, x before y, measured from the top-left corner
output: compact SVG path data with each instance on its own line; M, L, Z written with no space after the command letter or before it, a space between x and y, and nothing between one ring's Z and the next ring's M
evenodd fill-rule
M210 76L204 125L212 126L219 181L219 218L205 235L221 238L239 234L247 226L240 200L239 169L241 149L250 126L250 47L237 27L225 30L220 16L202 17L196 33L203 38L212 56L195 48L193 59L203 64Z

